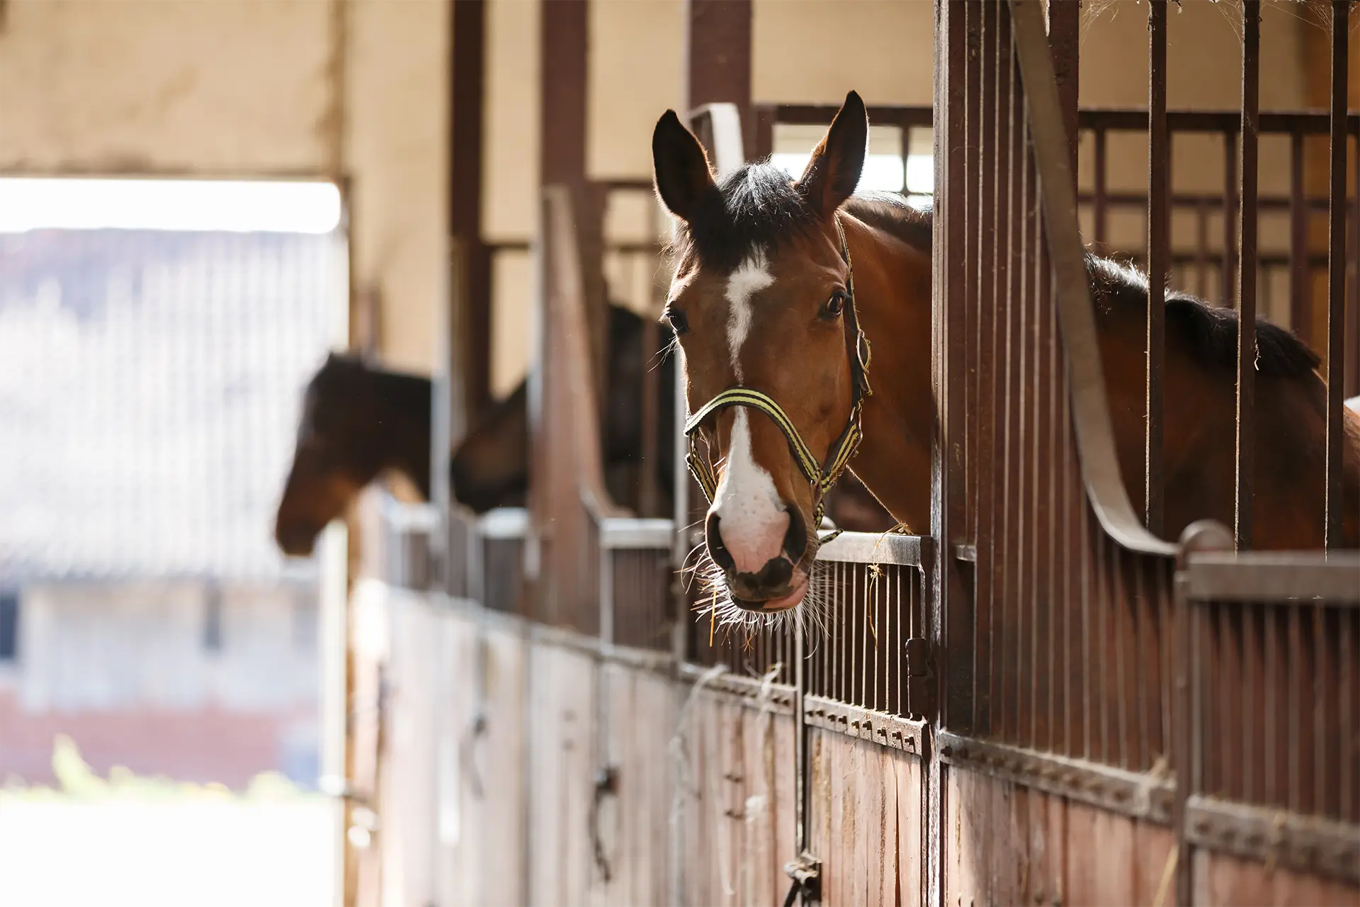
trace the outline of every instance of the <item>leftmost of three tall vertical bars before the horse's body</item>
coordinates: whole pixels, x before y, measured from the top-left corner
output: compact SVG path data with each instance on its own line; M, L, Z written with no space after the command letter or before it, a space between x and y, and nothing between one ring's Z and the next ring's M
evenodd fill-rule
M1148 332L1142 517L1161 536L1167 265L1171 257L1171 141L1167 132L1167 0L1148 0Z

